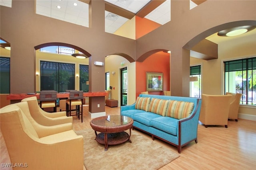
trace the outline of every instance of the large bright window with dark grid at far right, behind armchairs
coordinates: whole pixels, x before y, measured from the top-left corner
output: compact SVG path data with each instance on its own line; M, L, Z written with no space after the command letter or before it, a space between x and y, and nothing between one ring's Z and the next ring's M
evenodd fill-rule
M224 62L225 93L242 93L240 104L256 105L256 57Z

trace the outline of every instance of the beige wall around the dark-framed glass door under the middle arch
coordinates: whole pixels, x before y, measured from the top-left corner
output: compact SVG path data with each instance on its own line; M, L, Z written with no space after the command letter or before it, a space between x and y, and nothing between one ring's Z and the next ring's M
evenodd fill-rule
M120 69L127 67L128 72L128 98L127 104L133 104L136 100L136 62L130 63L127 59L124 59L118 55L110 55L105 59L105 72L110 73L110 86L112 86L111 99L118 100L118 106L120 106ZM124 64L121 64L123 63ZM115 72L115 74L112 74ZM114 89L115 88L115 89Z

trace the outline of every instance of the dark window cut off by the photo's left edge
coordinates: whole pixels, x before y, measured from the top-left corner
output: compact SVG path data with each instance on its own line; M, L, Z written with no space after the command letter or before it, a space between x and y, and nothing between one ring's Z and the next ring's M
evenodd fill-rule
M10 58L0 57L0 94L10 94Z

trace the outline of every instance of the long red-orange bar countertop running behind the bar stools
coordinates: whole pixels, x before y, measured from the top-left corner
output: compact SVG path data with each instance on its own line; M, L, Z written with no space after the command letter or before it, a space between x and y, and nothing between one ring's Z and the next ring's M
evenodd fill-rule
M84 97L98 97L98 96L106 96L106 92L84 92ZM39 93L18 93L18 94L9 94L6 96L7 100L22 100L24 98L29 98L32 96L36 96L39 99ZM61 92L57 93L57 98L69 98L69 92Z

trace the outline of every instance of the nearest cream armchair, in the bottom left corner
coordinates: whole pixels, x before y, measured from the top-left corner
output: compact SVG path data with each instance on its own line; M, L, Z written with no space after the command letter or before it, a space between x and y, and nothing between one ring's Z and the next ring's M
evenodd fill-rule
M0 109L0 127L10 162L22 163L26 170L85 169L83 137L65 131L64 125L32 124L18 105L11 104Z

